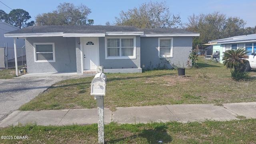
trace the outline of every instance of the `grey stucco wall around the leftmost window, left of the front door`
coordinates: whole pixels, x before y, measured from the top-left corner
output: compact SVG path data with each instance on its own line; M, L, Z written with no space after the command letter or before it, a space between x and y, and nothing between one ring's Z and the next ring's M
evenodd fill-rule
M56 62L34 62L34 43L54 42ZM76 72L75 38L41 37L26 39L28 73Z

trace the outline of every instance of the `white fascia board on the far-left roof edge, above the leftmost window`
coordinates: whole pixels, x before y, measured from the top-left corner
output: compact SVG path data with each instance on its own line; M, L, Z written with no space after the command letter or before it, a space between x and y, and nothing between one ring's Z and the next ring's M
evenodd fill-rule
M63 36L63 32L4 34L4 37L6 37L6 38L15 38L15 37L48 37L48 36Z

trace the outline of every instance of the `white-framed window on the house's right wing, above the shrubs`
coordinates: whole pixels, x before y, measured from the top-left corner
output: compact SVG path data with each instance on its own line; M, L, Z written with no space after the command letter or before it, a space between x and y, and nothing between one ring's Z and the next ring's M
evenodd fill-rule
M158 39L158 57L172 58L172 38Z

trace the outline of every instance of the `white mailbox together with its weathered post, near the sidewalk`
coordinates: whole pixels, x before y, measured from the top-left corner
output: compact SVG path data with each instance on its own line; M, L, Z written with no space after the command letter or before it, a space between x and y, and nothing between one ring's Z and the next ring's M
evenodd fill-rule
M97 100L98 106L98 144L104 144L104 96L106 94L106 75L98 73L91 83L91 95Z

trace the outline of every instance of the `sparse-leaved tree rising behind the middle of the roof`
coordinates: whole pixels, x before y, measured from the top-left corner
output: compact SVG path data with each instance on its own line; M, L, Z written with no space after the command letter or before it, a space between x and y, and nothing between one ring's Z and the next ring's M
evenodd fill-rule
M171 14L166 2L143 3L139 8L121 11L115 17L116 25L136 26L138 28L178 28L182 26L180 16Z

